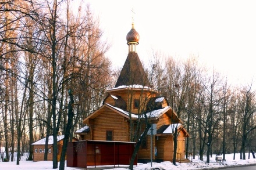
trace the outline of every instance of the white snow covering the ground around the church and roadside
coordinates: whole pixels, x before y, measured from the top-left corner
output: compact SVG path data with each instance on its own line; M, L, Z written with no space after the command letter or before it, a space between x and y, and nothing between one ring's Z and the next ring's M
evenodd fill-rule
M251 155L250 159L247 160L240 160L240 154L236 154L236 160L233 160L233 154L226 154L226 161L225 162L216 162L215 155L211 158L211 162L209 164L205 163L205 161L200 161L198 158L193 160L190 163L177 163L177 166L173 165L171 162L161 162L161 163L152 163L152 168L159 168L159 169L205 169L205 168L221 168L227 166L239 166L239 165L249 165L249 164L256 164L256 159L253 159ZM247 157L248 158L248 155ZM24 158L23 158L24 159ZM26 158L25 158L26 159ZM205 158L206 160L206 158ZM118 165L115 166L115 170L127 170L127 165ZM121 168L122 167L122 168ZM88 167L94 168L94 167ZM101 169L108 169L109 167L101 167ZM1 170L16 170L16 169L52 169L52 161L20 161L20 165L16 165L16 162L0 162L0 169ZM66 170L81 170L82 168L71 168L66 167ZM137 167L134 167L135 170L142 170L142 169L151 169L151 163L148 164L138 164Z

